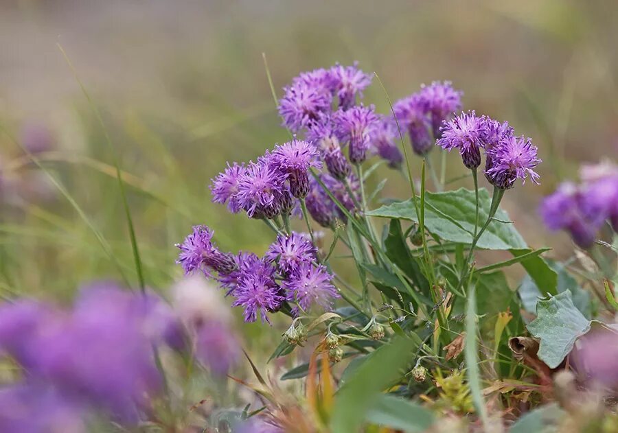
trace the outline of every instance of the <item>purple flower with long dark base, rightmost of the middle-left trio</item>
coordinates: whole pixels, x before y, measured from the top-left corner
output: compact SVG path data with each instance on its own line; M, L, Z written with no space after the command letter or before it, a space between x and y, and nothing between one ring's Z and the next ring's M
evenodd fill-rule
M321 168L318 151L306 141L288 141L277 145L271 156L271 165L288 174L290 193L296 198L304 198L309 192L308 170Z

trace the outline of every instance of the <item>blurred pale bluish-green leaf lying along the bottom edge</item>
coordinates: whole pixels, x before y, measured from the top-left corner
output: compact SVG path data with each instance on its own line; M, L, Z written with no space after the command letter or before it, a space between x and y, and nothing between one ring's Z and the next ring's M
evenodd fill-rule
M413 401L393 395L380 395L369 412L367 421L408 433L424 432L433 425L435 417L429 410Z

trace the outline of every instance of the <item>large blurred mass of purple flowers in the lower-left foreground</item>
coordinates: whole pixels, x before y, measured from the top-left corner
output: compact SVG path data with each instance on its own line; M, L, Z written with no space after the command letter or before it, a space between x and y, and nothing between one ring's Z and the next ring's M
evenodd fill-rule
M112 283L85 288L71 310L25 299L1 305L0 353L24 374L0 388L0 431L81 432L93 415L126 425L148 419L163 384L153 348L182 350L186 336L161 298Z

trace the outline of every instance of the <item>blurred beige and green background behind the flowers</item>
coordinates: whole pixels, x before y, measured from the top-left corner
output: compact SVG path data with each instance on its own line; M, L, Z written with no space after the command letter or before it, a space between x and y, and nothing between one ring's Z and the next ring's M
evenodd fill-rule
M279 93L300 71L354 60L378 73L392 100L453 81L464 109L508 120L538 145L541 185L516 187L504 207L531 246L564 258L569 240L546 233L536 208L581 163L618 154L617 16L612 0L3 1L0 294L69 299L81 283L123 274L136 284L93 106L124 171L148 285L164 292L180 277L174 243L193 224L211 226L222 249L262 253L271 233L211 204L207 185L226 161L255 159L288 137L263 52ZM387 113L375 79L365 102ZM37 152L86 218L10 137ZM458 159L449 156L447 178L463 173ZM386 167L371 183L387 176L384 196L407 198ZM253 347L262 328L244 328Z

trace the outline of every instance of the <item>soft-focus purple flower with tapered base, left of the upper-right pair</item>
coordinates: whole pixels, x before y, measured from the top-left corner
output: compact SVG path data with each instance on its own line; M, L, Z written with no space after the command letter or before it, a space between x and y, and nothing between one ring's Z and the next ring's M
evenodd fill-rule
M393 110L401 126L408 131L414 153L422 156L429 152L433 145L431 121L421 97L417 93L405 97L395 103Z

